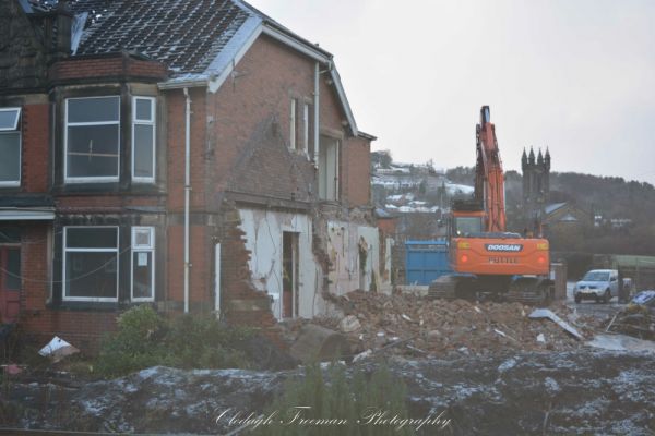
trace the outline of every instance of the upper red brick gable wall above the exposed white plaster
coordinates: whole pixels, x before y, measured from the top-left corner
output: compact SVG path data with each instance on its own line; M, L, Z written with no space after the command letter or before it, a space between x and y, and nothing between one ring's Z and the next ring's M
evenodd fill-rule
M209 141L216 147L214 189L286 199L294 193L295 199L307 199L310 190L315 192L315 170L302 152L288 149L290 101L298 100L301 125L302 105L313 104L314 62L261 36L236 71L236 78L228 78L207 101L214 120ZM320 81L321 128L343 134L341 109L325 78L323 74ZM297 141L301 146L301 129ZM348 145L349 140L344 147Z

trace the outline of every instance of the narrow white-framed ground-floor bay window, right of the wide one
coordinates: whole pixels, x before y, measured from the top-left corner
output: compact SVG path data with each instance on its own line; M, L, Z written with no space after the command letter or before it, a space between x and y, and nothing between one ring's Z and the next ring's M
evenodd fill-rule
M132 301L155 299L155 229L132 228Z

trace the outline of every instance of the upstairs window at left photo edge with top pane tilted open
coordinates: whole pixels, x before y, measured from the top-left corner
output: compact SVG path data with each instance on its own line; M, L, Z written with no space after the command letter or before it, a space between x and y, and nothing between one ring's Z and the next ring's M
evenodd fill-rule
M21 184L21 108L0 108L0 186Z

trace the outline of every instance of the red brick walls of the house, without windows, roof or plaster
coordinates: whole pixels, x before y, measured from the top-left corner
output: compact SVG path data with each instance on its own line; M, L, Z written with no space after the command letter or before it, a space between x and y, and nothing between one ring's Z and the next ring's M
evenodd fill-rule
M191 100L190 279L192 311L215 308L214 246L222 244L221 308L230 323L271 327L275 324L266 294L250 277L245 232L236 204L318 210L313 134L309 153L290 149L291 99L313 105L315 61L261 35L235 65L216 93L188 87ZM322 71L325 65L321 65ZM50 89L0 96L0 106L22 108L22 177L20 189L0 189L5 199L45 197L53 220L9 222L21 229L21 318L23 331L43 342L57 335L93 351L97 339L116 328L117 315L130 298L130 229L155 228L155 293L163 312L183 307L184 142L187 97L182 89L158 89L165 65L127 55L59 60L49 69ZM145 92L144 92L145 89ZM117 182L64 182L62 165L67 98L119 95L120 174ZM145 94L144 94L145 93ZM154 94L148 94L154 93ZM153 96L157 108L155 183L131 180L129 124L133 96ZM34 102L38 101L38 102ZM313 119L313 111L310 112ZM320 77L321 135L340 142L338 206L370 209L370 138L353 136L334 83ZM31 199L29 199L31 201ZM19 204L19 203L16 203ZM322 222L322 221L321 221ZM0 222L0 226L3 225ZM114 226L119 229L119 291L110 303L70 302L62 298L63 229ZM317 249L318 250L318 249ZM127 253L127 254L124 254ZM320 253L319 253L320 255ZM320 257L320 256L319 256Z

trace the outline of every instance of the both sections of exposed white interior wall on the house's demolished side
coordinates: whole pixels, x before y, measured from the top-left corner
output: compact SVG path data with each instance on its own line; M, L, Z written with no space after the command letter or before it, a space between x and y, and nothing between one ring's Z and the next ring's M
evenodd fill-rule
M282 319L283 232L298 233L298 316L311 318L331 310L321 298L323 274L312 252L312 220L302 214L240 208L246 249L251 252L249 268L253 286L274 299L273 314ZM368 291L377 280L381 283L380 240L378 228L346 221L327 223L327 254L333 268L329 274L329 291L342 295L356 289ZM359 244L367 250L365 274L359 270ZM382 261L384 262L384 259ZM362 286L360 286L362 284Z

